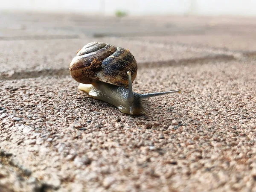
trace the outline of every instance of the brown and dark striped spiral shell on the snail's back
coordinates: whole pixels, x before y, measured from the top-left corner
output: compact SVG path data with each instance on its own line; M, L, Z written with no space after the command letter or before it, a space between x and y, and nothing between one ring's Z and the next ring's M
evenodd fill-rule
M137 62L128 49L92 42L76 53L69 69L70 75L79 83L103 81L128 87L127 71L131 71L131 79L134 81L137 75Z

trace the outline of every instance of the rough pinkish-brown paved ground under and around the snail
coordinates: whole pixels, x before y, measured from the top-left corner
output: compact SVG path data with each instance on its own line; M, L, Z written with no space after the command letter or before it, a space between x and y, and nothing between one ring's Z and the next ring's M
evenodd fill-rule
M0 14L0 191L256 191L256 20ZM77 90L91 41L130 49L121 113Z

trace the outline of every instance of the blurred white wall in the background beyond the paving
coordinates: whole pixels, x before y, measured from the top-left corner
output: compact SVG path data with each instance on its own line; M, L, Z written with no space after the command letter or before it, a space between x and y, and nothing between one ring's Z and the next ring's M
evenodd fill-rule
M0 10L256 16L256 0L0 0Z

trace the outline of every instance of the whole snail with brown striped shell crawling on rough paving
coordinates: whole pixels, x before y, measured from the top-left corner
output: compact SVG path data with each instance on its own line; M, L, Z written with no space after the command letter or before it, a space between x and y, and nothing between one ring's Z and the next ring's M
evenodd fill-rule
M132 82L137 75L137 61L128 49L92 42L76 53L69 65L70 75L78 81L78 89L94 99L116 106L122 113L147 114L142 101L154 96L180 93L134 93Z

